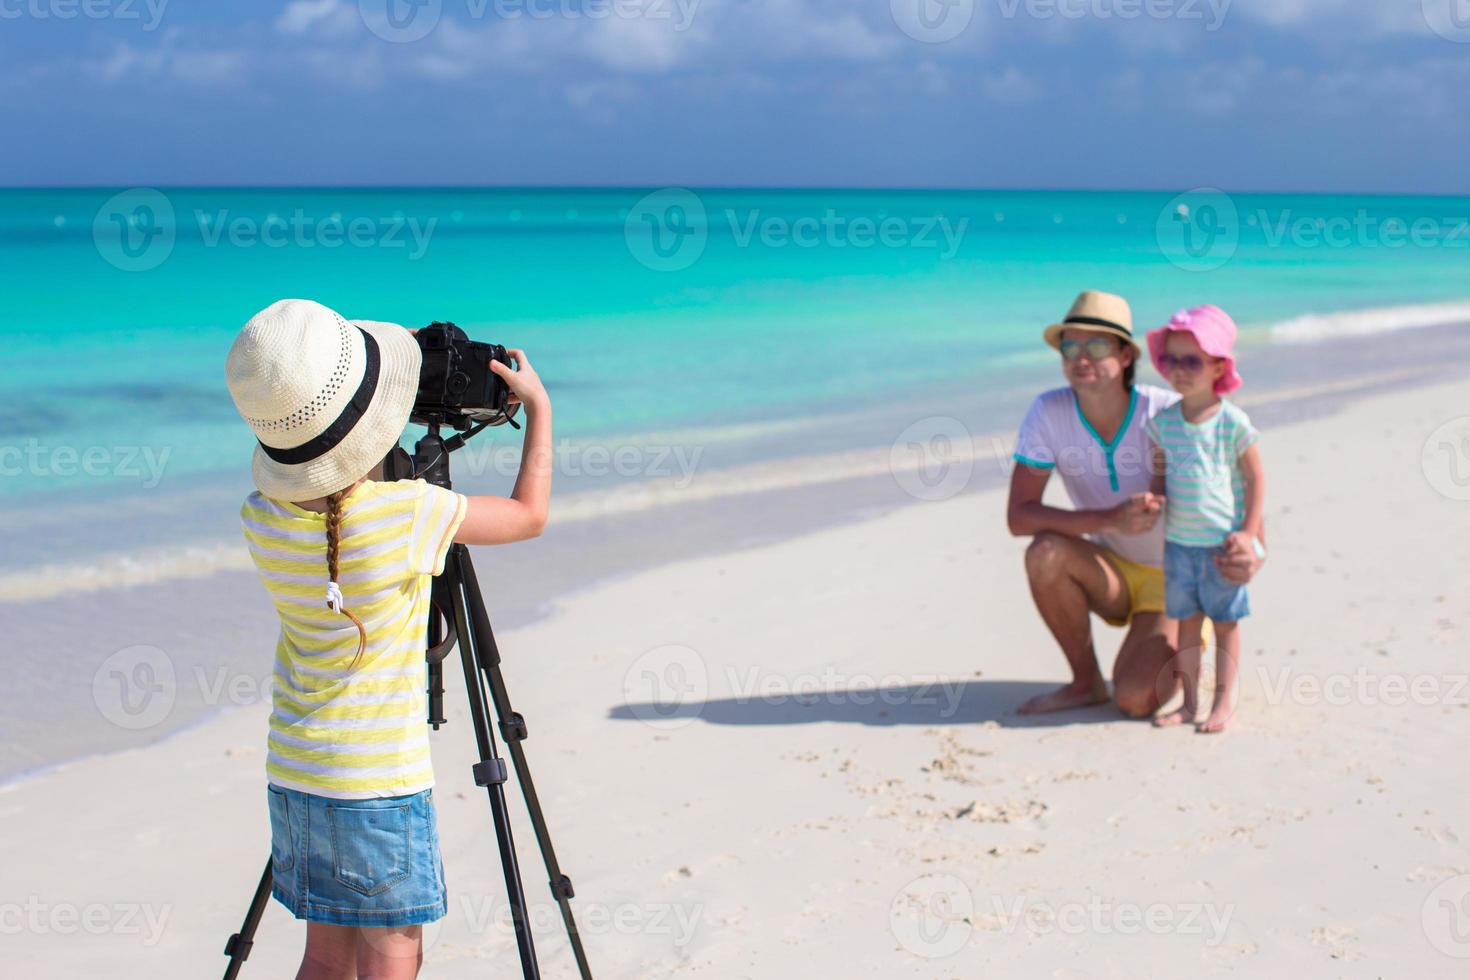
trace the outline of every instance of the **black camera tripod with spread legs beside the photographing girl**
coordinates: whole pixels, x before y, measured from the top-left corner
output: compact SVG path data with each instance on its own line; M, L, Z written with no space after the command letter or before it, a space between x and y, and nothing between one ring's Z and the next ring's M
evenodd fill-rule
M403 450L394 451L384 466L384 479L412 479L422 476L429 483L450 488L450 453L465 445L465 442L484 429L484 425L469 429L445 441L440 436L438 419L429 420L428 433L419 439L410 458ZM592 973L587 965L587 954L582 951L582 937L576 929L576 918L572 915L572 879L562 873L556 851L551 848L551 836L547 832L545 817L541 814L541 801L537 796L535 783L531 780L531 768L526 764L526 754L522 742L528 738L526 720L519 711L510 707L510 696L506 693L506 679L500 673L500 649L495 646L495 635L490 627L490 614L485 611L485 599L479 592L479 580L475 577L475 566L470 563L469 550L465 545L451 545L444 561L444 573L434 580L432 586L434 613L429 616L428 661L429 661L429 724L435 730L445 724L444 718L444 658L457 645L460 663L465 667L465 692L469 696L470 720L475 724L475 742L479 748L479 763L472 767L475 785L484 786L490 795L490 813L495 823L495 839L500 845L500 865L506 876L506 893L510 899L510 917L516 932L516 948L520 951L520 970L526 980L539 980L541 968L537 964L537 951L532 943L531 923L526 915L526 896L520 884L520 865L516 861L516 845L510 835L510 814L506 810L506 761L495 751L495 736L490 729L490 713L487 696L495 708L500 723L500 735L506 739L506 749L510 761L516 767L516 780L526 799L526 810L531 813L531 826L537 833L537 843L541 846L541 860L545 862L550 879L551 895L562 909L562 923L566 926L567 939L572 943L572 955L576 956L576 968L582 980L591 980ZM488 695L487 695L488 686ZM256 886L256 895L245 912L244 926L225 943L225 955L229 965L225 970L225 980L232 980L240 973L240 965L250 956L254 945L256 927L270 899L270 861L266 861L265 874Z

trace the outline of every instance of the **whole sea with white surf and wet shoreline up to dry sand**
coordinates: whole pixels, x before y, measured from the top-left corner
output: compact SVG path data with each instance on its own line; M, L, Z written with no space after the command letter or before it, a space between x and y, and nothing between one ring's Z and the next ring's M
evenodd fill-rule
M0 780L220 710L181 683L166 723L119 727L96 702L119 651L263 670L276 623L237 517L253 439L223 363L278 298L531 351L570 448L545 538L481 564L513 629L612 576L911 502L901 433L1013 432L1060 383L1039 332L1083 288L1125 294L1139 331L1230 310L1266 428L1327 410L1322 382L1463 375L1467 222L1467 198L1207 191L0 191L0 624L21 651ZM519 439L456 454L456 486L509 491ZM976 466L970 488L1003 479Z

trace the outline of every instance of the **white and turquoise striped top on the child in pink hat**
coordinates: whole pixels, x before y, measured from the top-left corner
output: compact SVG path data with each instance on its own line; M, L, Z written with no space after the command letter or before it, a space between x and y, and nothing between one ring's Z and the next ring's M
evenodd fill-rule
M1164 451L1164 539L1216 548L1245 520L1241 455L1260 433L1232 401L1195 425L1180 403L1148 420L1148 438Z

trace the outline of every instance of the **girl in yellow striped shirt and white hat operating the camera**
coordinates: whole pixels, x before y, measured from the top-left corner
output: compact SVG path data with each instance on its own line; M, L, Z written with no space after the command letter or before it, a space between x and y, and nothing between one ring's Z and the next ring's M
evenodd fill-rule
M298 980L415 977L423 923L447 912L425 661L431 577L451 542L535 538L551 495L551 403L525 351L490 369L525 406L510 498L379 482L419 388L392 323L281 300L229 350L254 430L240 511L281 617L266 779L272 895L307 921Z

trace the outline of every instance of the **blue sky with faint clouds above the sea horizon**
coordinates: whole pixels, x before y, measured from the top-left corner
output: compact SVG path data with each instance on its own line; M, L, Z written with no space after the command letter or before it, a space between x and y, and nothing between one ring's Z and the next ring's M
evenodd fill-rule
M0 0L0 184L1470 192L1470 0L413 3Z

